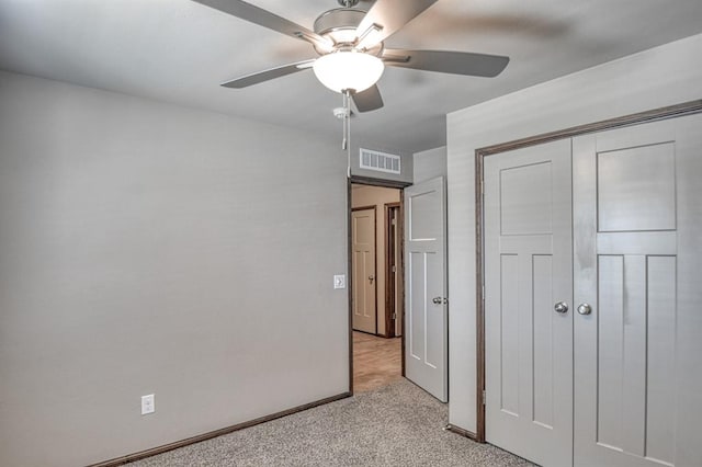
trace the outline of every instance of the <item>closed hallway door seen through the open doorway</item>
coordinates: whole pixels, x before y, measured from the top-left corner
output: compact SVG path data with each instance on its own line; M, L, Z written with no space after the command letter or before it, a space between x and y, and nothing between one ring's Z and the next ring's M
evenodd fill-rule
M375 334L375 209L353 210L351 226L353 329Z

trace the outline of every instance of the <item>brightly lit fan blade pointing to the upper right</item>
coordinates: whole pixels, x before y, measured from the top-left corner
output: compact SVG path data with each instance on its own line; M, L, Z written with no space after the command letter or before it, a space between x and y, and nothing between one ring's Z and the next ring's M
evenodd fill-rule
M377 0L355 30L356 48L371 48L395 34L437 0Z

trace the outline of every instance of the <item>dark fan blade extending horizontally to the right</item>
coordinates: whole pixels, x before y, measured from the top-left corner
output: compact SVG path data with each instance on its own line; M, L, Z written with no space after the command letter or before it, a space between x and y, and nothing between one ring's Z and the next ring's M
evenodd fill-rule
M383 61L392 67L494 78L507 67L509 57L469 52L386 48Z

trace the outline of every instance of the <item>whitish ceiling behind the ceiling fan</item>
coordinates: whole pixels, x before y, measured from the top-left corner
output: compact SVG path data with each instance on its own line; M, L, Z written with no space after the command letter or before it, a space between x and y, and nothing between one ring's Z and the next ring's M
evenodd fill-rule
M336 0L250 0L312 29ZM370 1L361 5L369 7ZM494 79L386 69L385 107L356 139L445 144L445 114L702 32L701 0L439 0L392 47L508 55ZM0 0L0 68L341 136L341 96L302 71L244 90L240 75L314 57L308 44L190 0Z

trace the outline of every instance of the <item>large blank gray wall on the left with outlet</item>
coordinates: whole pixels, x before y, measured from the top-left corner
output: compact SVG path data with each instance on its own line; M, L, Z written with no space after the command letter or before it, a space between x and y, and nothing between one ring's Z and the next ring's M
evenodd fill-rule
M0 465L347 391L333 136L0 72Z

